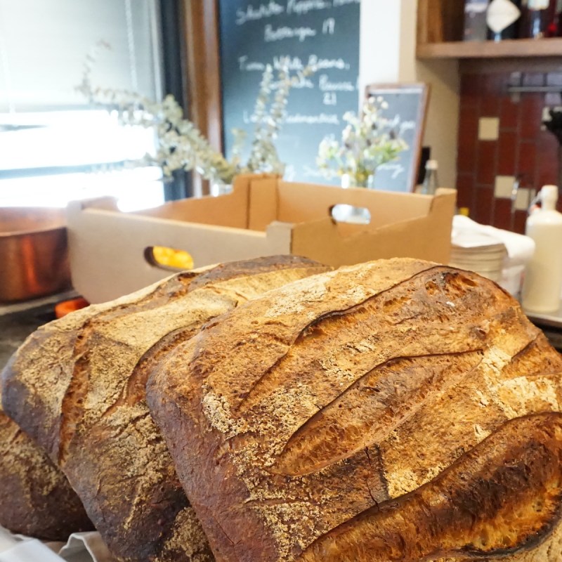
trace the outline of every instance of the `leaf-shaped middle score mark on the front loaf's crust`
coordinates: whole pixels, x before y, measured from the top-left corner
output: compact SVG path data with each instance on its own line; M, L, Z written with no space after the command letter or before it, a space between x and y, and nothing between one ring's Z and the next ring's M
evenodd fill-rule
M271 470L303 476L381 443L428 398L472 372L482 357L476 349L377 365L293 433Z

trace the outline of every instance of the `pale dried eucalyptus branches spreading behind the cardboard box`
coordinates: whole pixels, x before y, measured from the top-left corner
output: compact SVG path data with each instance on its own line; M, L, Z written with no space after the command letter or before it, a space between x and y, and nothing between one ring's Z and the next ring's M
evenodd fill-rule
M138 164L161 166L166 176L178 169L197 170L204 178L223 183L231 183L235 175L246 172L283 173L285 166L277 155L275 140L285 120L289 91L314 71L312 67L306 67L291 77L288 61L282 61L277 83L273 84L273 67L266 66L251 117L256 124L251 152L247 164L243 165L241 155L246 141L245 131L233 131L233 155L227 160L211 147L189 119L183 117L183 109L174 96L168 95L159 103L131 91L94 88L91 72L102 48L110 47L100 42L86 57L84 74L77 91L86 96L90 103L116 110L122 124L140 125L155 130L157 152L155 155L145 155ZM270 101L273 89L275 96Z

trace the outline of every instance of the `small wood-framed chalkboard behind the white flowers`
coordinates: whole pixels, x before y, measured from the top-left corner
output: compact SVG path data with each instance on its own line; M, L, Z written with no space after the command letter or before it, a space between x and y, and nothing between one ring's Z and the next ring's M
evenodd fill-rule
M427 84L370 84L365 95L383 98L388 104L385 117L396 123L396 129L408 148L398 159L377 168L374 188L410 192L415 188L421 140L424 136L429 86Z

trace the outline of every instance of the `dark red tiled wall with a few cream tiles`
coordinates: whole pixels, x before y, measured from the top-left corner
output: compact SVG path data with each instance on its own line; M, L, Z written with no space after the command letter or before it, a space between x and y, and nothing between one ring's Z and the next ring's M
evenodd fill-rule
M545 106L562 105L559 93L508 93L509 85L561 86L562 72L463 74L461 81L458 206L475 221L523 233L528 197L558 183L558 141L541 130ZM514 213L510 191L521 176ZM559 204L562 204L559 201Z

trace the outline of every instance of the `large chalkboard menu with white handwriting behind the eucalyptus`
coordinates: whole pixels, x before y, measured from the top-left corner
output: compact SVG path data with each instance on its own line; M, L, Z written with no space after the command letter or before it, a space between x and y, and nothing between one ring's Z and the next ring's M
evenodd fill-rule
M227 156L232 129L244 129L251 138L266 65L275 68L287 58L289 67L302 70L311 63L318 70L289 94L276 147L287 164L286 179L326 182L315 164L318 145L329 134L340 138L341 117L359 105L359 7L360 0L219 1Z

